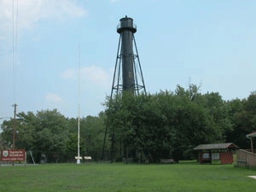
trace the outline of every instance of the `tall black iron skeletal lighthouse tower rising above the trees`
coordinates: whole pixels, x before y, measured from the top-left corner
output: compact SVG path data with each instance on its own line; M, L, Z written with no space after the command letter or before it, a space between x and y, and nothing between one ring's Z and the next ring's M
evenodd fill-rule
M117 32L120 34L119 45L113 73L110 101L112 100L113 94L118 96L120 92L126 90L131 91L135 95L139 95L140 91L143 91L145 94L147 93L143 79L143 71L137 52L137 44L134 38L134 33L137 32L137 26L133 23L131 18L127 17L127 15L119 21L119 25L117 26ZM135 53L133 50L135 50ZM109 109L110 108L111 106L109 106ZM108 123L107 120L102 148L102 159L104 157ZM112 151L113 137L114 132L112 132Z

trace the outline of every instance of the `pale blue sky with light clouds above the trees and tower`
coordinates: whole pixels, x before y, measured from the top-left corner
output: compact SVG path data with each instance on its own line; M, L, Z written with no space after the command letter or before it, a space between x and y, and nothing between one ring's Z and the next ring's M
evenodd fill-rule
M81 116L103 111L125 15L137 25L149 93L201 84L202 94L247 98L256 90L255 9L253 0L0 0L0 117L13 117L14 103L17 113L77 117L79 45Z

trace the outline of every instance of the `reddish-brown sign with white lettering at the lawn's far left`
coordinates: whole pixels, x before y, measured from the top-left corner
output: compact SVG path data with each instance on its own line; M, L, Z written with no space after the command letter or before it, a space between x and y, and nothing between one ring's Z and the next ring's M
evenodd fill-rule
M1 151L1 161L22 161L25 160L24 149L4 149Z

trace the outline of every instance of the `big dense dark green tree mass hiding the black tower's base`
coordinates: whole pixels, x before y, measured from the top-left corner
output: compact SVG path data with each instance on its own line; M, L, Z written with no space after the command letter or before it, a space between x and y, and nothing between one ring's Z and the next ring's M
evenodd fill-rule
M168 158L170 151L180 160L198 144L223 141L223 130L211 111L194 102L180 86L175 94L167 90L148 96L124 92L109 104L115 150L134 148L157 162Z

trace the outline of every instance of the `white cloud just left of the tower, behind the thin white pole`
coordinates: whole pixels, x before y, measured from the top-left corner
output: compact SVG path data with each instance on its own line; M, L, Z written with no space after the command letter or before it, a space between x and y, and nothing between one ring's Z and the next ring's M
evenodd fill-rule
M109 89L109 84L111 84L111 69L106 71L102 67L90 66L81 68L81 80L87 83L94 83L101 86L104 89ZM76 79L77 69L70 68L61 73L63 79Z

